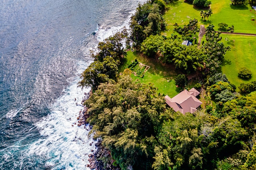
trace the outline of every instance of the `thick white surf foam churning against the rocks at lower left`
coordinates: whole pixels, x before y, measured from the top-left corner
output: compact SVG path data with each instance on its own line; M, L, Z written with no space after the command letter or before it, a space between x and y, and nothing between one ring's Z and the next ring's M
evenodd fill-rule
M86 164L89 164L88 154L95 150L95 141L88 138L89 131L83 125L74 125L79 111L83 109L80 102L84 93L90 91L89 88L78 88L76 83L72 81L72 85L64 91L65 94L52 106L52 112L36 124L44 137L31 144L28 149L28 154L46 157L45 166L53 170L85 169Z

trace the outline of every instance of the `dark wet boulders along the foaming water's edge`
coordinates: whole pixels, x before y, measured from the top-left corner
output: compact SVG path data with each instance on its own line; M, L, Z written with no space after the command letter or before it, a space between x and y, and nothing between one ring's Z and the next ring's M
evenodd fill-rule
M77 124L74 124L78 127L81 127L82 125L84 125L84 128L88 127L87 119L90 117L90 115L87 114L87 107L84 105L84 101L90 97L91 93L91 91L89 93L84 93L85 96L82 99L81 104L76 103L76 105L81 105L84 108L80 110L79 115L76 118L78 120ZM91 129L92 126L86 128L86 130ZM113 165L114 160L112 159L111 153L107 148L102 146L100 139L98 139L94 145L95 150L91 150L92 154L88 154L88 161L90 164L87 164L86 167L90 168L91 170L120 170L119 167ZM90 146L92 146L92 143L90 143Z

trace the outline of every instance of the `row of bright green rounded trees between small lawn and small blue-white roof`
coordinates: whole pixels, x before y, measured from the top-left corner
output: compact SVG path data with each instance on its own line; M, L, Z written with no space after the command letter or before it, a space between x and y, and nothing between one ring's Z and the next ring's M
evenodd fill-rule
M179 39L164 39L158 35L146 38L141 45L141 52L147 56L154 56L160 52L160 61L173 63L176 69L180 69L184 73L202 69L204 57L206 57L195 45L182 45L182 41Z

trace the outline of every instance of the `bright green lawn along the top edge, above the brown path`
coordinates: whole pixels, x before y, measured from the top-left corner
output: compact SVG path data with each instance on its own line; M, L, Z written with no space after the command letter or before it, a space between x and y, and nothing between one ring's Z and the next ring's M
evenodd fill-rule
M230 0L211 0L211 9L213 14L209 20L203 22L200 17L201 9L194 8L192 4L188 4L183 0L179 0L172 4L168 4L164 18L168 26L166 27L166 36L170 36L173 32L173 24L178 23L180 26L188 24L190 19L198 19L198 25L209 24L215 26L218 30L218 23L224 22L228 26L234 26L235 32L254 33L256 32L256 11L252 9L250 4L245 6L230 5ZM252 21L251 19L255 19Z

